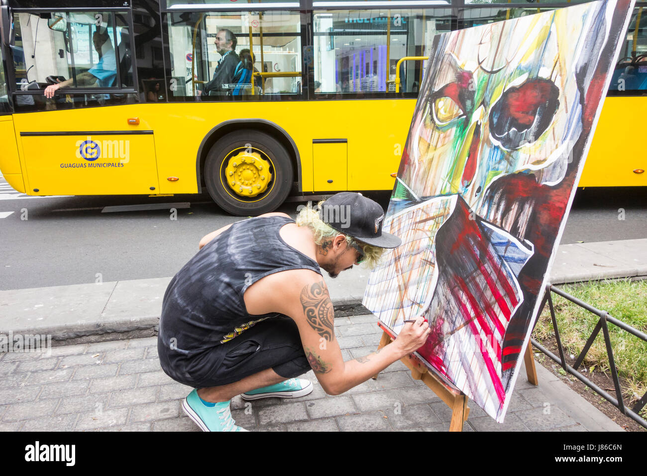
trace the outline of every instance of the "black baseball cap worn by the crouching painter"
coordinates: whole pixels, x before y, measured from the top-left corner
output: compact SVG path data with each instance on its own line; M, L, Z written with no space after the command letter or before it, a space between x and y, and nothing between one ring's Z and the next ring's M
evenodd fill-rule
M324 201L319 218L337 231L368 245L397 248L402 244L395 234L382 232L382 207L356 192L340 192Z

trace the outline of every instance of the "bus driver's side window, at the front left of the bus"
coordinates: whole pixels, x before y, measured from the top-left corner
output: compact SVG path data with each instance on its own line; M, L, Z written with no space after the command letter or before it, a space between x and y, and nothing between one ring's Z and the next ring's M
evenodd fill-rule
M129 33L126 13L56 12L14 14L14 72L16 107L49 109L74 100L104 104L107 94L66 98L74 88L132 89ZM62 84L49 102L45 89ZM48 104L49 106L45 106ZM29 107L31 106L31 107Z

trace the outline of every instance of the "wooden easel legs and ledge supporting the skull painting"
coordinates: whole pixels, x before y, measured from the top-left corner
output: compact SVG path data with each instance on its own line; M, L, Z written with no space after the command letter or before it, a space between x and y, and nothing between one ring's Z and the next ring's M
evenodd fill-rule
M382 333L382 339L380 339L380 344L377 346L377 348L380 349L395 340L395 336L391 334L391 331L388 330L384 324L378 321L377 325L380 326L382 331L384 331ZM523 360L526 366L526 373L528 374L528 381L532 383L532 385L538 385L539 381L537 380L537 371L534 367L531 343L529 343L526 348ZM452 409L452 420L449 424L449 431L463 431L463 423L465 423L467 417L470 416L470 407L467 405L467 396L453 385L450 385L435 376L435 374L433 374L432 371L430 371L430 369L415 355L410 354L408 356L404 356L400 361L406 365L409 370L411 370L411 377L413 380L421 380L424 385L429 387L433 393L439 396L441 400L443 400L443 402ZM377 379L377 374L373 376L373 379Z

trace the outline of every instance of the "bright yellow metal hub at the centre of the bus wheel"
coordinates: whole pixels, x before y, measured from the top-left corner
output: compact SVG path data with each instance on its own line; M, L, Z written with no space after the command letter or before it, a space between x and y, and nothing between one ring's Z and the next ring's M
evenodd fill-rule
M270 162L258 152L239 152L230 157L225 168L229 188L241 197L255 197L267 190L272 180Z

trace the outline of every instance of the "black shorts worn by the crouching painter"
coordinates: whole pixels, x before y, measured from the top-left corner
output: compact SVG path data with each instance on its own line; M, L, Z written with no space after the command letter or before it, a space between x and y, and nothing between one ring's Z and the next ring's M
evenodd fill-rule
M196 389L234 383L267 368L286 379L310 370L299 329L286 316L272 317L248 328L234 339L203 352L200 361L205 367L204 377L186 381L178 377L186 376L186 372L164 365L164 359L160 359L168 376Z

